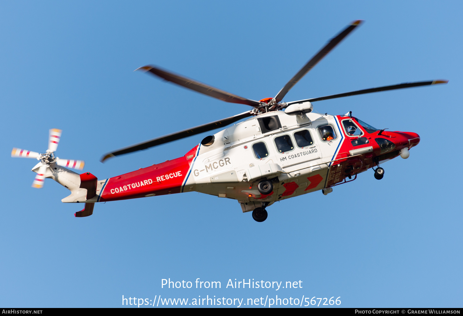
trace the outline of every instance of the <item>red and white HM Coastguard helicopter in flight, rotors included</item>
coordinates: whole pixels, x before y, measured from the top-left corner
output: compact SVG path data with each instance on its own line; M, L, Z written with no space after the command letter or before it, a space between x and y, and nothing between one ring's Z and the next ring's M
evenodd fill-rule
M225 127L207 136L184 156L153 164L120 176L98 180L89 172L79 175L67 169L82 170L81 160L55 157L61 130L50 129L44 154L13 148L12 157L37 158L32 169L37 176L32 184L42 188L44 178L51 178L71 191L64 203L85 203L76 217L92 215L94 203L135 199L163 194L197 191L235 199L243 212L262 222L266 207L275 201L322 190L332 192L336 185L353 181L372 168L375 178L382 179L379 164L395 157L408 158L409 149L418 145L419 135L412 132L385 131L346 115L313 113L312 102L447 83L432 80L352 91L325 97L283 102L283 97L310 69L344 37L362 23L357 20L332 38L275 97L254 101L205 85L193 79L153 66L138 68L188 89L231 103L247 104L251 110L222 120L196 126L110 152L107 158L165 144L174 140ZM283 111L284 110L284 111Z

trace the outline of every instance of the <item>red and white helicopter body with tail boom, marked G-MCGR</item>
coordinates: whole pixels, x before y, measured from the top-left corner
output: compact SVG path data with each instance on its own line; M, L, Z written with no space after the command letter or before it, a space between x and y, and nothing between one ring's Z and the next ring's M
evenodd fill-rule
M357 174L401 155L401 150L408 153L419 143L419 135L365 128L348 115L272 111L202 143L183 157L98 180L90 200L67 201L105 202L195 191L235 199L248 212L353 181ZM273 183L271 193L259 192L262 180Z

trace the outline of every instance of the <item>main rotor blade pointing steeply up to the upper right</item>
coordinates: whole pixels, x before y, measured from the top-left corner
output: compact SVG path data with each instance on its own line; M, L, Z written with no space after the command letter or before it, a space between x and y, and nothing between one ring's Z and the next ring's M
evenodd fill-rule
M328 42L324 48L320 49L317 54L315 54L310 61L307 61L307 64L304 65L300 69L298 73L294 75L291 80L288 81L288 83L278 92L278 94L275 97L276 102L280 102L283 97L288 93L288 91L295 85L297 82L304 77L304 75L312 69L319 61L322 60L323 57L325 57L326 54L328 54L332 49L336 47L349 33L354 30L358 25L360 25L363 22L363 20L356 20L352 22L350 25L348 25L344 30L342 30L338 35L334 36L334 38L331 39L330 42Z

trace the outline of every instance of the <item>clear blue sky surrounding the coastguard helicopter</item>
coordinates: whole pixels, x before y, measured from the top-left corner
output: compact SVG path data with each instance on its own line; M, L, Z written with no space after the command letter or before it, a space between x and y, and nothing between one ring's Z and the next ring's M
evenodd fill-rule
M304 295L341 297L341 307L461 307L462 9L459 1L1 3L0 305ZM134 69L156 64L250 99L273 97L359 18L365 23L285 100L450 80L314 103L421 136L410 158L384 164L381 181L367 172L327 196L275 203L263 223L236 201L198 193L98 204L76 219L81 207L60 201L66 188L50 179L31 188L36 162L10 157L13 147L45 151L49 128L63 129L57 155L85 160L100 179L180 157L207 134L99 162L248 107ZM222 288L162 289L168 278ZM235 278L303 288L225 288Z

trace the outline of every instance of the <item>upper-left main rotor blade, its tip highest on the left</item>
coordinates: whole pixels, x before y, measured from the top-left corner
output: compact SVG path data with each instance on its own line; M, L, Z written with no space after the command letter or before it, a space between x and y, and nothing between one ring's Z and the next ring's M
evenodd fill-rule
M205 94L206 96L209 97L215 97L216 99L225 101L225 102L230 102L230 103L240 103L240 104L246 104L250 106L259 106L259 102L246 99L244 97L237 96L235 94L232 94L227 91L223 91L217 88L214 88L210 85L203 84L199 81L189 79L187 77L183 77L179 74L175 73L170 73L166 70L156 68L154 66L144 66L138 68L140 70L149 71L150 73L161 77L162 79L165 79L167 81L173 82L177 85L181 85L182 87L194 90L196 92ZM136 70L138 70L136 69Z

